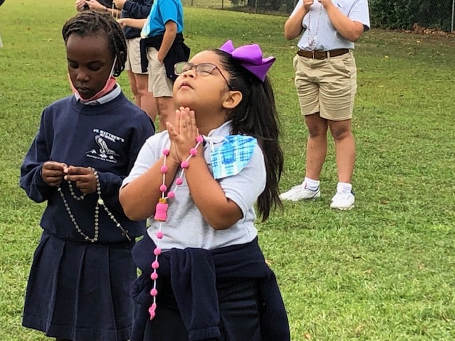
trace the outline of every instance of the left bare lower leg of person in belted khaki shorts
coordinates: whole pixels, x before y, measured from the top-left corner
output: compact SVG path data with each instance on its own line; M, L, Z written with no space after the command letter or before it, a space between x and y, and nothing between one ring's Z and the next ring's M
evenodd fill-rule
M316 114L306 115L305 123L308 128L306 143L306 178L319 180L322 166L327 154L327 120Z

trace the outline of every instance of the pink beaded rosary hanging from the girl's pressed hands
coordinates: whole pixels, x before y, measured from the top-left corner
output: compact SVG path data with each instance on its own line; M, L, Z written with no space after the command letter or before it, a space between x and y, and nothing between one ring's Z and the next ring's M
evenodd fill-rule
M151 280L154 282L153 288L151 288L150 295L153 296L154 301L151 304L149 308L149 314L150 314L150 320L152 320L155 315L156 315L156 295L158 295L158 290L156 290L156 279L158 279L158 273L156 272L156 269L159 268L159 261L158 261L158 256L161 254L161 249L159 247L159 242L161 239L163 239L163 232L162 232L162 226L164 222L167 220L167 211L168 211L168 199L173 199L173 197L176 196L176 190L179 185L183 183L183 177L185 176L185 170L190 166L188 161L190 158L195 156L198 153L198 146L202 144L204 141L202 135L199 135L196 137L196 146L194 148L190 149L190 155L188 158L186 158L185 161L182 161L180 164L181 171L178 174L176 178L176 185L173 188L173 190L168 191L168 195L166 196L166 190L168 190L166 186L166 173L168 171L168 168L166 166L166 158L169 155L169 150L164 149L163 155L164 155L164 161L163 161L163 166L161 166L160 171L161 174L163 174L163 183L159 186L159 190L161 191L161 197L159 198L158 203L156 204L156 209L155 209L155 215L154 215L154 220L156 220L159 223L159 229L156 232L156 238L158 239L158 242L156 243L156 248L154 249L154 255L155 255L155 260L151 263L151 269L153 269L153 272L150 275Z

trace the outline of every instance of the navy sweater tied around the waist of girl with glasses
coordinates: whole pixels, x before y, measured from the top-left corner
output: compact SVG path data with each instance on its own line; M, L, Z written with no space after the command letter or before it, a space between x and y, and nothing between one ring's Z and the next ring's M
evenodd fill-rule
M132 296L139 303L131 341L142 341L148 309L151 262L156 245L144 235L133 248L132 256L142 274L133 283ZM172 289L188 340L208 340L220 336L220 311L215 283L225 280L257 280L262 341L289 341L289 323L277 279L264 260L257 238L252 242L220 249L171 249L159 256L159 278L171 278Z

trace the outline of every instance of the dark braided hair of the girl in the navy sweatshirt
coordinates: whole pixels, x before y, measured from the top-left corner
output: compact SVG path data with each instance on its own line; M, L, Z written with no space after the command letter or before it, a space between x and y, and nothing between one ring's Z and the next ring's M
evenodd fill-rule
M107 13L97 11L81 11L70 18L62 28L65 43L71 34L89 36L94 33L104 33L107 39L107 48L112 53L112 58L117 55L114 67L114 76L119 76L124 70L127 60L127 42L119 23Z

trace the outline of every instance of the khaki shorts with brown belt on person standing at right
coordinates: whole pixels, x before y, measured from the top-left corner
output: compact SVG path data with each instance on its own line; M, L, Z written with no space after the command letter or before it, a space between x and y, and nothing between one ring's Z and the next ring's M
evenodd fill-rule
M301 114L319 112L331 121L353 117L357 67L352 51L322 60L296 55L293 65Z

